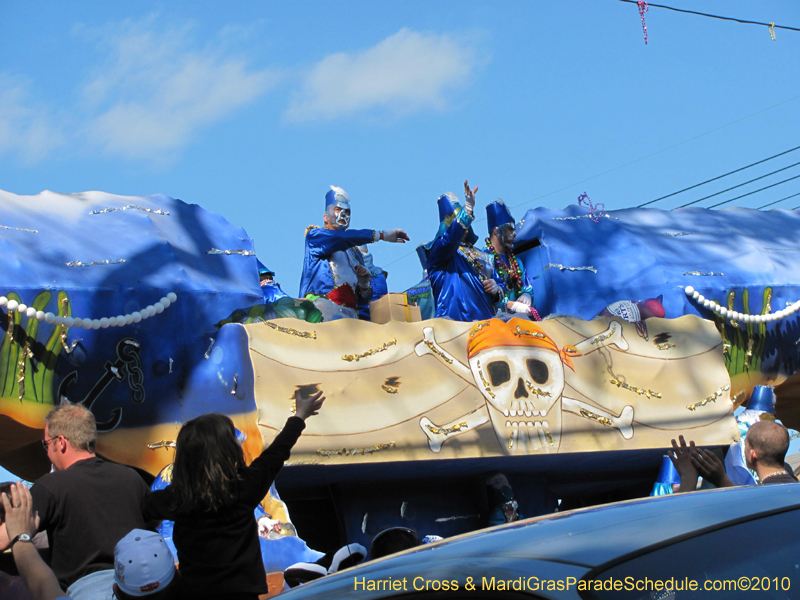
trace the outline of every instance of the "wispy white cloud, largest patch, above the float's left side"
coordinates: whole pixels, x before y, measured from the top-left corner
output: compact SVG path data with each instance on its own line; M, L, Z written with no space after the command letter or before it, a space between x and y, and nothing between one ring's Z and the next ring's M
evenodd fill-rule
M157 31L152 22L105 34L110 58L82 90L89 141L108 154L169 160L199 129L275 85L275 72L228 55L223 37L196 48L191 27Z

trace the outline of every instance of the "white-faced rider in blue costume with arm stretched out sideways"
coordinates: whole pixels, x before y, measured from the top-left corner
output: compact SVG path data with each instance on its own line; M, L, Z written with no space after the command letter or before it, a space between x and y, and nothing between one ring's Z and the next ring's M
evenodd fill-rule
M357 318L359 303L372 298L371 276L356 246L379 240L405 243L402 229L350 229L350 198L331 186L325 194L325 227L306 231L306 255L300 297L309 298L326 321Z

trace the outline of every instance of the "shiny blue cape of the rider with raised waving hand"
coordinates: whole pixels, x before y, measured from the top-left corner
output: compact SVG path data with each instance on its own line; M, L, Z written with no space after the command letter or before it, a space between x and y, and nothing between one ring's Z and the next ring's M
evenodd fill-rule
M474 248L480 253L483 273L470 264L463 251L459 251L464 231L472 222L472 217L461 211L461 217L454 219L444 234L433 241L428 252L428 273L436 299L436 316L455 321L478 321L491 319L495 315L492 299L483 290L484 279L494 279L503 283L494 270L491 254ZM471 248L471 246L464 246Z

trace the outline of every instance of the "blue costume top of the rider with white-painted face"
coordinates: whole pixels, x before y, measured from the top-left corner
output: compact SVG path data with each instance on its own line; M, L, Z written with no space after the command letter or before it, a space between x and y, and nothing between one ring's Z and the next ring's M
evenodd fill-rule
M372 229L312 229L306 234L306 255L303 277L300 280L300 297L306 294L327 296L340 285L350 284L358 298L355 263L364 264L361 252L344 253L355 246L374 241ZM335 254L341 253L341 254ZM352 263L353 266L348 264ZM355 307L351 307L355 308Z

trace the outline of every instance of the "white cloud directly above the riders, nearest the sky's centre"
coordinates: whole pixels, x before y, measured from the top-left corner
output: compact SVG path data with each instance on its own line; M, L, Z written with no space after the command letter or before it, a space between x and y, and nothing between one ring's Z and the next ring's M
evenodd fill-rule
M408 114L441 110L468 82L477 60L466 41L401 29L355 54L331 54L317 63L286 117L334 119L358 111Z

